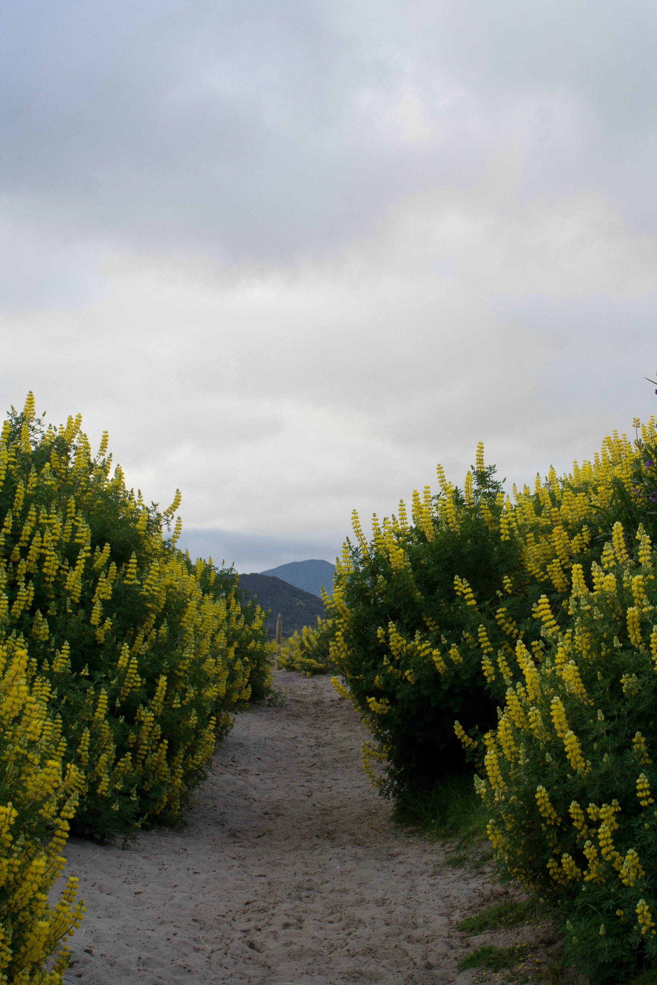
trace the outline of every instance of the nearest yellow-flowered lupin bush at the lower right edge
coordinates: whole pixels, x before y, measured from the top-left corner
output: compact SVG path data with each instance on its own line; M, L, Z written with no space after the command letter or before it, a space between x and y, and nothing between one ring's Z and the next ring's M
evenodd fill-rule
M560 899L566 947L597 980L657 961L657 582L650 539L617 522L590 571L571 569L567 627L536 615L486 736L489 833L511 876Z

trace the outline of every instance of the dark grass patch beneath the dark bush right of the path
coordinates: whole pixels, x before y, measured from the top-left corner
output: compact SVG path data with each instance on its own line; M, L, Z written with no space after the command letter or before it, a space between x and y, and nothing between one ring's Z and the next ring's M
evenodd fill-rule
M393 819L434 838L456 836L461 850L486 839L488 815L468 774L446 776L430 790L407 794L395 804Z

